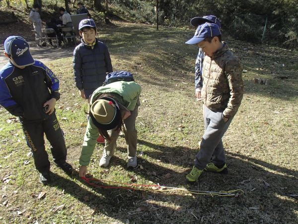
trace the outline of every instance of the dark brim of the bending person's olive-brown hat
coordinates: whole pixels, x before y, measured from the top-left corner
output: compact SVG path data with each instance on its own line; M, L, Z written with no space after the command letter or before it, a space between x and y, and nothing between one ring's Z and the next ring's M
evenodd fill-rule
M116 108L116 115L115 115L114 120L113 120L112 122L108 123L108 124L99 123L99 122L95 119L95 117L93 116L92 112L90 112L90 114L89 114L89 115L90 115L90 118L91 118L93 124L94 124L98 129L101 129L101 130L112 130L112 129L114 129L114 128L118 125L120 119L122 119L122 115L121 115L120 107L119 107L120 105L119 105L113 98L110 98L110 97L102 97L102 98L99 98L99 99L97 99L97 100L100 100L100 99L102 99L102 100L112 101L113 104L116 106L116 107L115 107L115 108ZM122 106L122 105L121 105L121 106ZM122 107L123 107L123 106L122 106Z

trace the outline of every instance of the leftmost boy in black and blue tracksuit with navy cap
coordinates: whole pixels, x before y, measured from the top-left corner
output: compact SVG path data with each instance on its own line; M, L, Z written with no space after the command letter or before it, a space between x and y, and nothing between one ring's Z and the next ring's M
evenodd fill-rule
M43 63L33 60L24 38L7 37L4 49L9 62L0 70L0 105L19 116L40 172L39 181L47 184L51 180L44 134L51 144L55 164L71 175L73 167L66 162L67 149L55 114L56 101L60 99L58 79Z

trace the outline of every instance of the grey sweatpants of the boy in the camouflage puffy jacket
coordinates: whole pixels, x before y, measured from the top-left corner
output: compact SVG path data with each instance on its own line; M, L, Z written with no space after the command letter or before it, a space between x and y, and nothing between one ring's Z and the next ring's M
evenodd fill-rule
M215 165L225 163L222 137L233 118L224 122L223 111L213 112L205 107L205 133L202 137L200 152L195 160L195 167L200 170L203 170L210 162L212 154L214 154L212 161Z

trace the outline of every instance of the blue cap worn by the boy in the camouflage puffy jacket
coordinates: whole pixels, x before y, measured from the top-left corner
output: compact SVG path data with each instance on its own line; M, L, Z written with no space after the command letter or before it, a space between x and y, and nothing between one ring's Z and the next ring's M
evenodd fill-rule
M218 36L220 34L222 34L221 29L217 24L206 22L206 23L200 25L197 28L196 33L193 36L193 38L191 38L190 40L188 40L185 43L197 44L197 43L200 43L202 40L204 40L206 37Z

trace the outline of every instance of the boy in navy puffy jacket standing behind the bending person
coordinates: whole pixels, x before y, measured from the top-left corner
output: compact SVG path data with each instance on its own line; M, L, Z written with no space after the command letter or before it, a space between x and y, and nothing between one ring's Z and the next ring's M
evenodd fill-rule
M81 43L74 49L74 81L79 95L89 99L94 90L101 87L106 73L113 72L107 46L96 38L97 30L92 19L83 19L78 25ZM89 115L87 115L89 119ZM97 142L103 143L99 136Z

